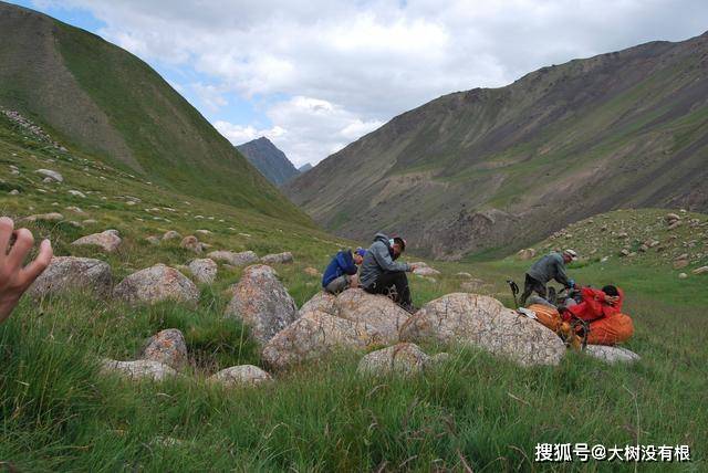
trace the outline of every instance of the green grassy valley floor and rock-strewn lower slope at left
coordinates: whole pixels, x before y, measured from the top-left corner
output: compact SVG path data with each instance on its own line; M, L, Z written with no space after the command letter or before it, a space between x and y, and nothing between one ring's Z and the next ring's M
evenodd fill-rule
M116 280L156 262L178 265L194 257L178 242L152 245L146 236L206 229L212 233L199 238L215 249L260 255L292 251L295 263L275 269L300 306L319 290L319 278L303 269L322 269L347 243L146 183L93 156L25 139L22 132L0 116L1 213L62 212L63 222L29 227L38 238L50 236L58 254L107 261ZM60 171L64 182L42 182L38 168ZM20 193L10 196L12 190ZM96 223L82 223L87 219ZM116 253L69 244L107 228L124 238ZM459 291L467 281L455 275L460 271L476 278L476 292L511 305L504 280L520 280L528 262L431 264L442 275L435 282L413 278L417 305ZM227 391L206 378L232 365L261 364L248 330L223 317L228 287L240 270L220 265L216 283L200 286L197 307L131 307L82 294L23 299L0 326L0 465L10 471L195 472L635 469L616 462L533 463L537 442L586 442L689 444L690 464L649 467L706 470L708 349L701 334L708 275L678 280L666 264L645 265L638 257L579 266L571 269L579 281L615 282L626 291L636 326L627 346L643 357L639 364L607 366L571 355L560 367L529 369L481 351L426 346L428 353L449 350L452 358L413 379L362 378L360 356L342 354L275 374L270 386ZM163 328L185 334L189 365L183 377L131 383L98 374L100 357L132 359Z

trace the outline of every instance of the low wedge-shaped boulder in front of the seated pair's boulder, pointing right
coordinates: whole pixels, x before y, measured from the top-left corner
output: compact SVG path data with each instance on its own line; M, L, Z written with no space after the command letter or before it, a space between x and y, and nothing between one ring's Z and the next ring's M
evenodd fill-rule
M383 344L383 337L369 325L309 312L271 338L262 357L273 368L284 369L340 350L364 351Z

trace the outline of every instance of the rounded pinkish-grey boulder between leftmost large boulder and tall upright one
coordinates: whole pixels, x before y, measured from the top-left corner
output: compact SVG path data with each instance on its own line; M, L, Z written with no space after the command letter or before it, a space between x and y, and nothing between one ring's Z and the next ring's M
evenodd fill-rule
M154 304L159 301L180 301L197 304L199 290L188 277L174 267L156 264L123 280L113 290L122 301Z

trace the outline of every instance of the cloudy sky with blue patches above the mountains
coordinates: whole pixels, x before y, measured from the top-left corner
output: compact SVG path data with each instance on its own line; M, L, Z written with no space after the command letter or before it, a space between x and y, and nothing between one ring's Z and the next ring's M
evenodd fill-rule
M440 95L708 29L708 0L21 0L154 66L227 138L315 164Z

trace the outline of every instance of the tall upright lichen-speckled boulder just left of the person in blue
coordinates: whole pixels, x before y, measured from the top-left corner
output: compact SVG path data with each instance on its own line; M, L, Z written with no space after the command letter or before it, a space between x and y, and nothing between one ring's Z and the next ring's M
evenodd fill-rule
M256 340L266 344L298 318L298 307L278 280L278 273L264 264L243 270L233 287L227 317L238 317L249 326Z

